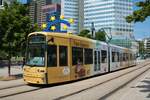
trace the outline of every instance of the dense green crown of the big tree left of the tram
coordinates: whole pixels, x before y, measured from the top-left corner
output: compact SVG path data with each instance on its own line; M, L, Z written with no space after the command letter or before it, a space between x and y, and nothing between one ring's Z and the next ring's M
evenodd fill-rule
M19 4L17 1L8 5L0 11L0 48L5 52L15 54L25 46L28 33L35 31L37 25L32 25L28 16L27 5ZM24 47L23 47L23 50Z

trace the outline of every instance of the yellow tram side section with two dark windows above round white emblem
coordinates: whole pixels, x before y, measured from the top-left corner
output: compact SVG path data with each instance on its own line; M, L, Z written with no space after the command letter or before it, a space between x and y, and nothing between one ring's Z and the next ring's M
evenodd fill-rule
M47 48L47 81L58 83L70 80L68 67L68 47L48 45Z

